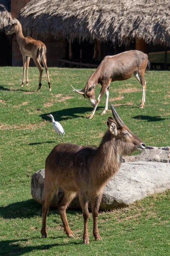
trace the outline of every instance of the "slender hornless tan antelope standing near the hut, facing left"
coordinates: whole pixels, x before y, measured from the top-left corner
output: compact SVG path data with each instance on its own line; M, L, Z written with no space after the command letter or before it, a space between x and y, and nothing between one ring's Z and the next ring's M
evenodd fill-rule
M17 35L17 42L20 46L20 52L23 55L23 81L21 84L21 87L24 85L25 81L25 71L27 72L27 79L26 79L26 86L28 85L28 66L30 58L33 58L35 65L37 66L38 70L40 71L40 79L39 79L39 86L38 90L41 88L41 80L42 80L42 71L43 68L40 64L42 61L42 64L45 67L45 71L47 73L47 79L48 79L48 85L49 85L49 91L51 91L51 83L48 75L48 68L46 64L46 46L41 41L34 40L33 38L27 36L23 36L22 32L22 26L19 20L12 19L11 20L12 25L6 29L6 35L11 35L13 33L16 33Z

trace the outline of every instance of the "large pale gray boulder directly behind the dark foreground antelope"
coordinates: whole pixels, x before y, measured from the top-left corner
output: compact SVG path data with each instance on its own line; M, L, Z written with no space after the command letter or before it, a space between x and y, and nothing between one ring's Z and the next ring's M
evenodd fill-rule
M31 179L31 194L42 204L45 171L35 172ZM158 162L122 163L119 172L105 186L100 210L127 206L147 195L170 189L170 164ZM51 207L57 207L62 191L54 195ZM70 208L79 209L77 198Z

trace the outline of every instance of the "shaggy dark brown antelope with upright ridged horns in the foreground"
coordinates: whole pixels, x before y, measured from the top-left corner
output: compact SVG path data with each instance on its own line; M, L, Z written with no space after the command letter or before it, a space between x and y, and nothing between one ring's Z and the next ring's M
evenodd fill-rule
M145 148L144 143L124 124L111 105L113 117L108 117L106 131L99 147L58 144L45 161L44 201L42 203L42 237L47 237L46 217L51 199L60 187L63 191L58 202L59 215L64 232L68 237L74 233L68 226L66 208L78 195L84 217L83 242L89 244L88 202L91 201L93 214L93 235L99 235L97 217L103 189L108 181L119 171L122 156Z

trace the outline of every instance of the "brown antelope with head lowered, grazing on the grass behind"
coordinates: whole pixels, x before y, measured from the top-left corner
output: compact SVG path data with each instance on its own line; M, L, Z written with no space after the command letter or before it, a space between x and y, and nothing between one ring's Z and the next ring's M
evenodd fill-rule
M106 94L105 109L102 114L108 111L108 98L109 98L109 85L113 81L122 81L129 79L131 76L135 76L142 84L142 102L140 108L144 107L145 102L145 88L146 81L144 80L144 72L146 67L149 67L149 61L147 55L137 50L131 50L122 52L113 56L106 56L96 71L89 77L85 87L83 89L76 90L71 85L73 90L85 98L89 99L94 110L88 118L92 118L102 99L103 94ZM95 99L95 87L97 84L101 84L99 97Z

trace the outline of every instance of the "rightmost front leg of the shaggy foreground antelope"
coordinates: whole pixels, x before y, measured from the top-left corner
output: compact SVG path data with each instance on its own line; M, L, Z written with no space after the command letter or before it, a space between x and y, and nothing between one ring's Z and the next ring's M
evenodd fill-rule
M92 214L93 214L93 235L95 240L102 240L99 234L99 229L98 229L98 213L99 213L99 205L101 200L102 200L102 194L94 198L91 204Z

